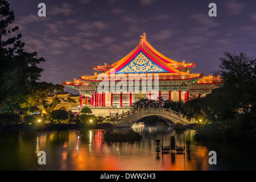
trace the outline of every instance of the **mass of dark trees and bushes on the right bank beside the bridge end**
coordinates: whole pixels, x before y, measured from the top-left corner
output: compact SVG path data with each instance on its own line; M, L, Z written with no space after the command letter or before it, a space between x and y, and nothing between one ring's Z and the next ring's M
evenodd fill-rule
M220 70L215 75L221 75L221 87L195 101L200 106L201 114L211 121L197 127L195 138L255 140L256 59L242 52L238 55L225 52L225 57L220 60Z

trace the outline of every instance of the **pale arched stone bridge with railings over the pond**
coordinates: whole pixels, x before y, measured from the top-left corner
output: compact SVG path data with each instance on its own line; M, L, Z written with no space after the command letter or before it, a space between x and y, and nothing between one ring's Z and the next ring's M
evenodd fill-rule
M181 113L177 113L171 108L166 109L163 107L141 107L134 110L129 110L126 113L122 113L117 115L114 118L115 126L132 126L135 122L139 121L144 117L150 115L159 115L169 119L174 123L182 123L183 125L188 125L191 123L195 123L196 119L192 118L191 120L187 119L187 117ZM170 123L168 123L170 125Z

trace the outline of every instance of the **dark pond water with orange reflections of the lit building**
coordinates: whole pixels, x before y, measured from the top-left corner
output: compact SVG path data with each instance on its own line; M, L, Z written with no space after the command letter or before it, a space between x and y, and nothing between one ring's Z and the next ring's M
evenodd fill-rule
M137 125L143 139L134 143L105 143L102 130L23 131L0 134L0 170L70 171L195 171L255 170L256 145L225 140L199 143L194 130L177 133L172 127ZM177 146L191 140L191 154L157 154L155 140ZM46 152L46 164L38 164L38 152ZM209 151L217 164L210 165Z

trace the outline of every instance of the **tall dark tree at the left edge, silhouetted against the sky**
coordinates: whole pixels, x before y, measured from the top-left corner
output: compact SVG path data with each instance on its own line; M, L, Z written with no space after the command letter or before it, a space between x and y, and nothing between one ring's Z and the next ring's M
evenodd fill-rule
M45 60L38 59L37 52L24 51L21 34L10 38L19 28L8 28L15 20L14 13L7 1L1 0L0 5L0 106L19 108L43 71L37 65Z

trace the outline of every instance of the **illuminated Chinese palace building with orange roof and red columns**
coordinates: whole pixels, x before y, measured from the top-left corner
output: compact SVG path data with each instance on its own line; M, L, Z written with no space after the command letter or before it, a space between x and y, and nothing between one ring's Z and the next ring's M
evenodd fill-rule
M220 77L191 73L195 66L196 63L177 62L162 55L143 34L138 46L123 59L93 66L96 71L93 76L80 76L74 81L64 81L63 85L79 91L80 107L129 107L141 98L158 97L187 102L189 98L211 93L220 83ZM121 89L114 89L117 86Z

